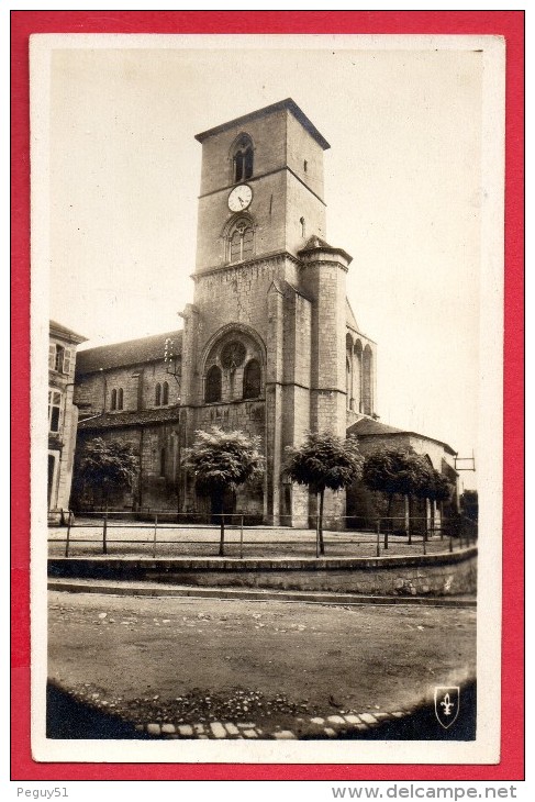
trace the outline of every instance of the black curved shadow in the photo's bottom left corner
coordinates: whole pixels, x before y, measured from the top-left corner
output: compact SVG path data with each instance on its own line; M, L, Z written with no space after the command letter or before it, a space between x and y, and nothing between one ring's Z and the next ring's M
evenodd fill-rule
M46 687L46 737L154 740L133 724L74 699L54 682Z

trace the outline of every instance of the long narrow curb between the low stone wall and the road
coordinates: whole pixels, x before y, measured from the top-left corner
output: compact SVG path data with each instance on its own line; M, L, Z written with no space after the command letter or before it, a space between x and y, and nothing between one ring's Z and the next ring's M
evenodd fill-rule
M416 597L416 595L356 595L325 591L249 590L241 588L201 588L176 584L136 584L134 582L85 582L83 580L48 580L48 590L69 593L103 593L110 595L187 597L193 599L225 599L243 601L306 602L312 604L417 604L423 606L477 606L473 597Z

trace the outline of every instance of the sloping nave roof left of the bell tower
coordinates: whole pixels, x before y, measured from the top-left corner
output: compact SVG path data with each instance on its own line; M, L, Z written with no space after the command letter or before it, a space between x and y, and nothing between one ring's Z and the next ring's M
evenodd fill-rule
M97 348L80 350L76 360L76 372L93 374L97 370L109 370L129 365L160 361L164 359L164 343L169 337L175 342L176 354L182 353L182 332L153 334L151 337L129 339L126 343L100 345Z

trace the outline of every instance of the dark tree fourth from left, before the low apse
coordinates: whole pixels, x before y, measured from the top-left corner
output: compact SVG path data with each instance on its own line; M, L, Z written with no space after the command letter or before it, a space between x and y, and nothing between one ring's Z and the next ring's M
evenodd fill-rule
M425 494L431 468L412 448L379 448L366 457L363 481L370 490L388 495L387 517L390 519L395 494L403 495L406 502L412 495ZM410 537L409 515L405 515L405 528Z

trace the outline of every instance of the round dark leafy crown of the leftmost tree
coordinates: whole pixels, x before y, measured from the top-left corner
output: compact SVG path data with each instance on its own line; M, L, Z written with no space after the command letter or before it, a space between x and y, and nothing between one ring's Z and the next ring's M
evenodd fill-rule
M138 472L138 460L132 447L102 437L88 441L77 456L77 476L93 493L102 492L108 504L110 491L130 490Z

